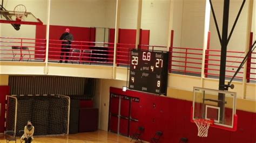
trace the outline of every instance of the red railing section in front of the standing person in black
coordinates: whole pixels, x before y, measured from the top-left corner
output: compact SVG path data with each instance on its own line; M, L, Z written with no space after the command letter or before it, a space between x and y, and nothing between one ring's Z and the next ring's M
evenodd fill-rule
M49 40L49 62L113 63L113 43L72 41L70 48L62 48L62 40Z

